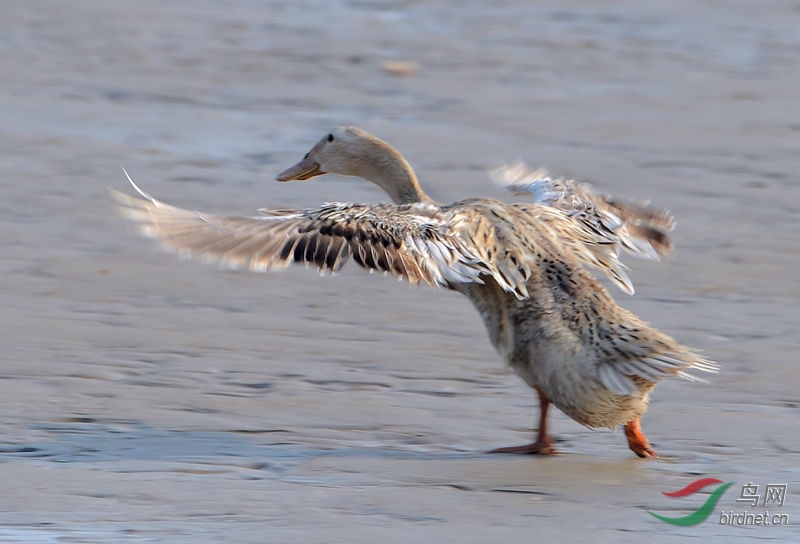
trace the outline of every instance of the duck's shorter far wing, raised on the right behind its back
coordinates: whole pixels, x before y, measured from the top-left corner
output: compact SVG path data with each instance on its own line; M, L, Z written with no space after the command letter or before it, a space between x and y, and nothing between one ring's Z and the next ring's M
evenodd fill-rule
M675 220L668 210L601 196L586 183L554 178L546 170L533 170L522 162L502 166L490 174L515 195L533 195L534 204L515 206L551 221L563 231L560 238L584 262L601 269L629 294L633 294L633 285L625 274L620 253L658 260L672 251L668 233L675 227ZM571 225L563 224L561 218L568 219Z

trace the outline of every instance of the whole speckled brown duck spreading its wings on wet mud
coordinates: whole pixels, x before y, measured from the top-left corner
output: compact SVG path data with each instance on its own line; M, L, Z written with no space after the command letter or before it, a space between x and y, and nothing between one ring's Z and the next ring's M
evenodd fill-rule
M719 370L619 306L595 277L599 272L633 294L620 256L659 259L671 252L674 218L647 203L603 196L586 183L518 162L491 176L529 200L440 204L399 151L351 126L325 134L277 180L356 176L383 189L391 202L223 217L166 204L124 173L137 194L112 190L122 214L182 257L257 272L297 263L322 274L352 260L464 294L494 348L538 396L533 441L492 453L557 453L548 427L555 406L590 429L622 426L631 451L656 457L641 426L650 392L668 377L705 381L693 371Z

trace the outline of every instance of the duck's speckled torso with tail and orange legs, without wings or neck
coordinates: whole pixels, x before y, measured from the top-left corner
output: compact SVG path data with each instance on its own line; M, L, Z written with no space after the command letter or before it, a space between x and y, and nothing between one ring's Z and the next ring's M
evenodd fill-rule
M640 430L649 392L666 376L714 365L618 306L579 259L564 251L546 220L513 206L492 213L496 222L516 227L513 232L527 233L521 241L534 256L528 296L520 299L491 278L455 289L475 305L495 349L538 392L541 409L533 443L495 451L553 452L546 430L552 403L590 428L625 425L631 449L654 456Z

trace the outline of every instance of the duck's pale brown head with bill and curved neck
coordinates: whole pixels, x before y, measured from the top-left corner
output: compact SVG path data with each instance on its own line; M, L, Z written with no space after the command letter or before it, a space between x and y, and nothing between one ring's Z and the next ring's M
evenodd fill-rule
M395 148L360 128L330 131L300 162L278 174L277 180L305 180L328 173L369 180L395 202L429 200L408 161Z

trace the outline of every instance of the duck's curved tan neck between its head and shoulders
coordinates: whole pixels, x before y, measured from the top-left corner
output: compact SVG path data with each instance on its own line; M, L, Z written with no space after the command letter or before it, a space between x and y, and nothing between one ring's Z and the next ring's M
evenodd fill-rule
M361 177L386 191L396 204L433 202L419 185L416 174L399 151L385 142L363 164Z

